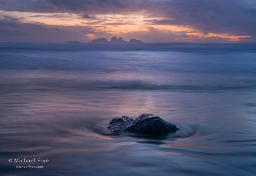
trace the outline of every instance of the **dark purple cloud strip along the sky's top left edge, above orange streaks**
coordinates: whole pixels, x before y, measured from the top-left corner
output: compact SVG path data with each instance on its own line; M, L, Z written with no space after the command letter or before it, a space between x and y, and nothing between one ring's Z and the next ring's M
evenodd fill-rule
M82 14L114 14L139 11L148 0L8 0L0 9L4 11L23 11L36 13L72 12Z

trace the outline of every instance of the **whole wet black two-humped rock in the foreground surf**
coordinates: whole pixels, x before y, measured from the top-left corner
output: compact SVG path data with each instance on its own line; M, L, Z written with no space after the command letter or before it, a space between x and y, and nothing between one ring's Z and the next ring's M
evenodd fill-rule
M174 124L147 113L141 114L137 119L131 119L127 116L115 117L109 123L108 128L112 134L134 132L152 135L178 130Z

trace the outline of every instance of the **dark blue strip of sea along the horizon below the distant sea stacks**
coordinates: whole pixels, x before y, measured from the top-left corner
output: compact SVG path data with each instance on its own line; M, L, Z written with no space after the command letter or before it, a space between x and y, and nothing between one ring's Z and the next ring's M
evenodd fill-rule
M0 51L26 52L26 51L188 51L188 52L236 52L256 51L256 44L192 44L192 43L145 43L145 44L67 44L67 43L13 43L12 45L0 44Z

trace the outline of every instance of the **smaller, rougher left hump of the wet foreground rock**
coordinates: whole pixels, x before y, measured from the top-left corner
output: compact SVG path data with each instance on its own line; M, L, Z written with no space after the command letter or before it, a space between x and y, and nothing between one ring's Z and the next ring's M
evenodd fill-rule
M108 124L108 128L111 130L111 133L121 133L124 132L124 129L128 127L134 119L122 116L120 117L114 117L111 122Z

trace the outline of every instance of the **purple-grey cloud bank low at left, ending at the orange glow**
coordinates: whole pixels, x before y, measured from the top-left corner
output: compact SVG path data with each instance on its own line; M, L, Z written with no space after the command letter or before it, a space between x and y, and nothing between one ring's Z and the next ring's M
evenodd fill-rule
M69 40L89 42L89 33L81 30L91 30L85 26L53 26L40 23L21 23L17 20L0 20L0 42L54 42L65 43Z

